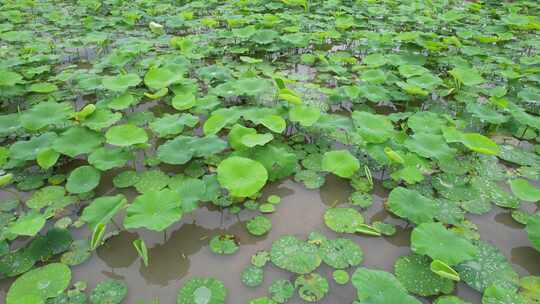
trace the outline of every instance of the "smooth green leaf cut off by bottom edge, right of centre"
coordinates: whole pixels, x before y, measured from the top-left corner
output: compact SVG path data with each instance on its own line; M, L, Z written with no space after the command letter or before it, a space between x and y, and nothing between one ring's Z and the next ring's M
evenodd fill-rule
M358 291L360 303L421 303L409 295L405 287L386 271L358 268L351 281Z

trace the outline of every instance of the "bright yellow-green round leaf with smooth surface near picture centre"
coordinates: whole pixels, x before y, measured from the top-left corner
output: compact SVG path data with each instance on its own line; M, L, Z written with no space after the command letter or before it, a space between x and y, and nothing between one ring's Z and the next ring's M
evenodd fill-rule
M232 156L219 164L217 178L221 186L232 196L248 197L261 190L266 184L268 173L257 161Z

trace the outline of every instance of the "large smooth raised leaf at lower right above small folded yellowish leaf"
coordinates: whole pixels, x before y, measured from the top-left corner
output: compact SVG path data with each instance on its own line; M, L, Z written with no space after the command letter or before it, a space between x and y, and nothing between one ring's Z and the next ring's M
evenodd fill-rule
M423 223L414 228L411 249L449 266L472 260L478 254L478 248L469 240L441 223Z

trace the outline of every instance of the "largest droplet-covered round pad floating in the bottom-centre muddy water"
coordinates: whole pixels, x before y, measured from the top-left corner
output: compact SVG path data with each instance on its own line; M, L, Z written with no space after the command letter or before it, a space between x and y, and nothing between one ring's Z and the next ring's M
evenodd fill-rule
M299 274L310 273L321 264L317 246L290 235L274 241L270 259L277 267Z

